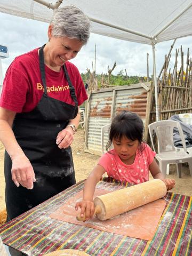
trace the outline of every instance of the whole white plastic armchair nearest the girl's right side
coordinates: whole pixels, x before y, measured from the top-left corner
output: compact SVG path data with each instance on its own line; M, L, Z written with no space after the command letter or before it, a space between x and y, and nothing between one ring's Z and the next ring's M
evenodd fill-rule
M183 151L177 151L173 143L173 129L176 127L179 130L181 137ZM149 124L149 134L151 143L154 147L154 136L153 132L157 136L158 144L158 154L156 154L156 159L159 162L160 170L163 173L163 176L166 175L167 164L177 164L177 173L179 178L181 178L181 167L182 163L189 164L190 175L192 177L192 156L187 153L185 139L183 136L183 131L181 125L177 121L157 121L152 124Z

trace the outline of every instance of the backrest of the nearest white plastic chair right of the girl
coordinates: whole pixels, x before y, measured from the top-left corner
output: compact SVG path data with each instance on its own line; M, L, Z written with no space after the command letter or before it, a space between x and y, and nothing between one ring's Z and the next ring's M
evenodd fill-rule
M186 143L183 135L183 131L181 129L181 125L177 121L157 121L149 124L149 134L151 143L153 145L153 149L155 151L154 146L154 136L153 132L156 133L157 136L157 144L158 144L158 153L163 153L167 151L175 151L174 143L173 143L173 129L177 128L180 134L180 138L182 141L183 149L186 150Z

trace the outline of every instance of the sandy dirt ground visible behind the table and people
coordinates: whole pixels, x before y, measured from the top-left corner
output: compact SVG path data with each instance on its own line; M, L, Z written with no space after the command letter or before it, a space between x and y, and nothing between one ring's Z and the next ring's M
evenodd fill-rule
M86 179L94 165L97 164L100 156L85 153L84 130L78 129L75 140L72 144L73 158L75 165L76 181ZM177 177L175 165L170 167L169 178L175 179L176 186L171 191L174 193L192 196L192 179L190 177L189 167L184 164L182 167L182 178ZM5 181L4 181L4 148L0 144L0 223L1 212L5 209Z

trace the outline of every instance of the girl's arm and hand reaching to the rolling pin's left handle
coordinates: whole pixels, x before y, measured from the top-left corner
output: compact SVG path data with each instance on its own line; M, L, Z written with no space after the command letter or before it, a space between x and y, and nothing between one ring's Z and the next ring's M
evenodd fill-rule
M84 184L83 201L78 202L75 205L76 211L78 210L78 207L81 208L81 217L85 214L86 220L93 217L95 208L93 203L95 187L105 172L106 170L99 164L94 167Z

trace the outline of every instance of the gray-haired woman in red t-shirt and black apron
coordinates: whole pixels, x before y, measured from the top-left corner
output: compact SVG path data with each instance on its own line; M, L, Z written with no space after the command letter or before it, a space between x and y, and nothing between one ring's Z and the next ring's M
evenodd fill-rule
M87 95L76 57L90 20L75 6L54 12L49 42L15 58L0 100L7 220L74 185L71 142Z

